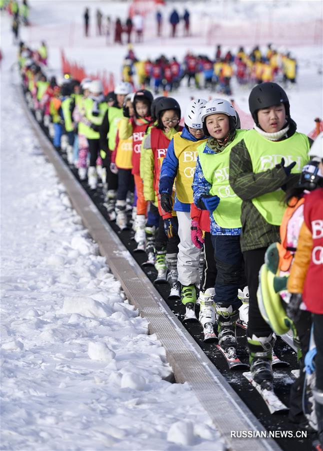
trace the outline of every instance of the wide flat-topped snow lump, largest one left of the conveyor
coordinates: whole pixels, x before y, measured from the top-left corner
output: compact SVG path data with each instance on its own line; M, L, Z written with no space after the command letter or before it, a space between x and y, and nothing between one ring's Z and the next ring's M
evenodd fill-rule
M92 298L66 297L63 308L59 311L62 314L78 313L79 315L106 318L110 316L111 309Z

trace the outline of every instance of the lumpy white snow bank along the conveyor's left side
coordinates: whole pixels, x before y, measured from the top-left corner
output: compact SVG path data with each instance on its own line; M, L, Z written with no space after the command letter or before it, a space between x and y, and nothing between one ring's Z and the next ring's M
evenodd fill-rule
M44 158L2 24L1 449L223 449Z

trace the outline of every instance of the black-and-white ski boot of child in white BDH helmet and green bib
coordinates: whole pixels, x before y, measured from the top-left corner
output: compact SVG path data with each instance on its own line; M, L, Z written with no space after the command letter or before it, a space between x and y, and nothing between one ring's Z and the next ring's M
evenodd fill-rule
M222 307L219 302L216 304L216 315L218 344L230 358L235 358L237 346L235 322L239 317L239 312L233 310L231 305Z

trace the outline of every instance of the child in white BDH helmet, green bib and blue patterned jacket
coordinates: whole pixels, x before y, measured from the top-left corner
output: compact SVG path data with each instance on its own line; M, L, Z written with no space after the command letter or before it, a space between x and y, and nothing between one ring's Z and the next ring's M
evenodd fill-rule
M238 116L227 100L213 99L202 111L203 131L207 142L198 147L192 184L195 205L208 210L211 219L211 240L217 275L214 303L218 316L219 346L231 358L236 353L235 324L239 317L238 289L244 287L240 251L241 200L228 182L231 148L245 130L238 130Z

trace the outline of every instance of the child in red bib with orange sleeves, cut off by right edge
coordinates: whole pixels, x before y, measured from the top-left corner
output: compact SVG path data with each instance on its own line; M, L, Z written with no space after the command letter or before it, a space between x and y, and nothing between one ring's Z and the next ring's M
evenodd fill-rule
M313 335L316 345L315 400L317 433L320 446L323 444L323 160L311 180L317 189L306 195L304 222L300 230L295 260L291 267L287 288L291 295L289 316L297 315L301 301L312 313ZM316 179L316 180L315 180ZM319 445L318 445L319 446ZM321 447L315 449L321 449Z

